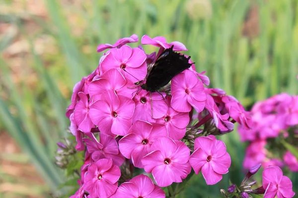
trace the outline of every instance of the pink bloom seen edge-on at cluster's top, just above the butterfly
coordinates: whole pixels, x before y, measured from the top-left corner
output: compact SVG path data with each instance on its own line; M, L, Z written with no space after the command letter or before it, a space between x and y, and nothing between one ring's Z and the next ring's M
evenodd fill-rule
M144 35L141 39L141 44L142 45L152 45L158 48L163 48L163 49L168 49L171 48L172 46L174 46L173 50L174 51L187 51L188 49L186 49L186 47L178 42L178 41L174 41L172 43L166 43L166 40L164 37L154 37L153 39L151 39L149 36Z

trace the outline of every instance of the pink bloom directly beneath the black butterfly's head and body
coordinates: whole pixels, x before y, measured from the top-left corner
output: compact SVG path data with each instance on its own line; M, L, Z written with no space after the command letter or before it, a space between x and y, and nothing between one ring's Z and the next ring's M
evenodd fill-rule
M165 97L165 93L161 94ZM155 119L161 118L166 114L167 104L158 93L141 90L135 95L133 100L136 103L133 122L137 120L155 122Z

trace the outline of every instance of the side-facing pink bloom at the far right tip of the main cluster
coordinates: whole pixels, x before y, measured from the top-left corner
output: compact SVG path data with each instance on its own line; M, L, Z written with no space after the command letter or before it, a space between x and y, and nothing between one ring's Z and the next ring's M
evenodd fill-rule
M228 96L224 96L222 100L231 118L233 118L246 130L252 128L253 122L251 119L250 112L245 111L244 107L240 104L240 102L231 100L231 98Z

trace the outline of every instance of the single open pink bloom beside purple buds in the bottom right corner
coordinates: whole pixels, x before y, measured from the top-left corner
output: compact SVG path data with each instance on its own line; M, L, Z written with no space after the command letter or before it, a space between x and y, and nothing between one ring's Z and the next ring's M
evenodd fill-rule
M278 166L269 166L263 171L264 198L293 198L293 184Z

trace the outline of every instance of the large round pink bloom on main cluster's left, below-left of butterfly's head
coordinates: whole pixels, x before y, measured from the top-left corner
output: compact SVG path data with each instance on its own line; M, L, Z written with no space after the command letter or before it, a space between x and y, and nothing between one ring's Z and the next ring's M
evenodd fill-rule
M135 102L115 91L108 90L90 107L89 116L99 130L105 134L124 136L132 125Z

